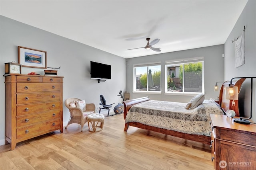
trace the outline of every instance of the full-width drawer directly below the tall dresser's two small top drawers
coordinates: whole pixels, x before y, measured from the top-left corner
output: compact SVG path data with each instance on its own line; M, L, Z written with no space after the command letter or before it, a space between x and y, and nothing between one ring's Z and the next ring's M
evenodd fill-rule
M17 83L17 93L60 91L60 83Z

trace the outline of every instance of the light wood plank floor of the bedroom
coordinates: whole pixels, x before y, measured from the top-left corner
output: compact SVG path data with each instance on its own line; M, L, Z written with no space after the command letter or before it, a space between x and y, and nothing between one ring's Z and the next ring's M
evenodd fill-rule
M213 170L208 145L136 127L124 132L123 115L105 118L104 129L72 124L18 143L0 146L1 170Z

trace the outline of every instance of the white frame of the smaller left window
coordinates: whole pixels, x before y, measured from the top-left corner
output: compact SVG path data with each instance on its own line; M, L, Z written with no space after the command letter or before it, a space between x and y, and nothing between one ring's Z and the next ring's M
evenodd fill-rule
M147 67L147 90L136 90L136 68L137 67ZM149 66L160 66L160 91L149 91L148 90L148 71ZM162 77L162 70L161 70L161 62L154 62L154 63L141 63L141 64L134 64L133 65L133 93L140 93L140 94L161 94L162 93L162 85L161 85L161 77Z

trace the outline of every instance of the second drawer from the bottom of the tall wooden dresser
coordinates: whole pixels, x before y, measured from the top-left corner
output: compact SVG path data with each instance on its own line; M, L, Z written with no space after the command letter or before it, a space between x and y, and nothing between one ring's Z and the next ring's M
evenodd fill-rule
M55 118L60 118L60 109L17 117L17 127L26 126Z

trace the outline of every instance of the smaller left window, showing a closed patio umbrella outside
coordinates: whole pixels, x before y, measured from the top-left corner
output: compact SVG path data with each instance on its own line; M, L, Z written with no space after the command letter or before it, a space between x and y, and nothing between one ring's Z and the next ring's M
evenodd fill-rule
M161 91L160 63L134 65L134 92Z

